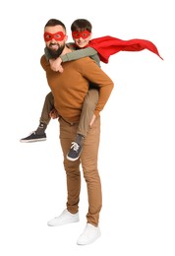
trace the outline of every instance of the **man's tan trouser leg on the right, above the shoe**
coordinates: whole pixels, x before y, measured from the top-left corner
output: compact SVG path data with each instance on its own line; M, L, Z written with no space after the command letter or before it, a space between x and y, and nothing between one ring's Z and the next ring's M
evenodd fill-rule
M101 183L97 169L98 148L100 138L100 117L90 127L84 142L81 155L84 177L87 182L88 213L87 223L97 225L102 205Z

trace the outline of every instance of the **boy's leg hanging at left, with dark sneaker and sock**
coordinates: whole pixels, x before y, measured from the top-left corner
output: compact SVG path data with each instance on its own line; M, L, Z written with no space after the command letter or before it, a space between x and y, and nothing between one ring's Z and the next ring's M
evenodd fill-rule
M52 93L50 92L47 96L45 96L41 116L39 119L40 121L39 126L28 137L21 139L20 140L21 142L37 142L37 141L46 140L45 130L50 121L49 113L53 108L54 108L54 98Z

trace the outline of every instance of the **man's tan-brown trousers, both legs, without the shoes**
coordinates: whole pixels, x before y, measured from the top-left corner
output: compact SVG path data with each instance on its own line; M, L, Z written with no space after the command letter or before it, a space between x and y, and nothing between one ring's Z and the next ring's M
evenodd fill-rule
M70 161L66 155L70 150L74 140L78 124L71 125L62 118L60 122L60 142L64 155L64 167L67 176L67 209L72 214L79 211L79 201L81 192L81 169L87 182L87 223L97 225L99 222L99 212L102 206L101 183L97 169L98 147L100 138L100 117L97 117L93 125L89 128L84 141L81 159Z

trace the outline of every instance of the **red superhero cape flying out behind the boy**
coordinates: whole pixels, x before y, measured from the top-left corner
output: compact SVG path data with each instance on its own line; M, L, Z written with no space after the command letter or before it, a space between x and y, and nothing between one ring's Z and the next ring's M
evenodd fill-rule
M160 57L156 46L149 40L145 39L130 39L121 40L109 35L91 39L89 47L94 48L102 62L108 63L109 57L119 51L141 51L147 49Z

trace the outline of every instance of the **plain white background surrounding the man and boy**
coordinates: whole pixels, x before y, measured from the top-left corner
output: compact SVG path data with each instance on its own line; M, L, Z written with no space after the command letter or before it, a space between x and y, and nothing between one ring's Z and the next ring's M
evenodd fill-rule
M175 36L171 0L6 1L0 4L0 255L174 256ZM120 52L102 69L115 88L101 112L99 172L103 191L101 237L77 238L86 225L83 180L81 221L49 227L66 203L57 120L47 141L22 144L36 129L49 92L40 66L43 27L50 18L93 25L93 38L145 38L155 54Z

